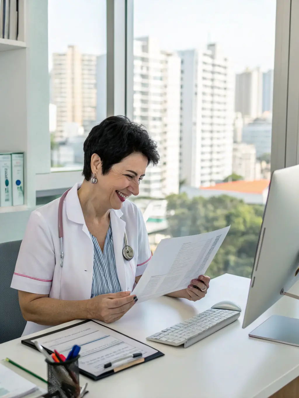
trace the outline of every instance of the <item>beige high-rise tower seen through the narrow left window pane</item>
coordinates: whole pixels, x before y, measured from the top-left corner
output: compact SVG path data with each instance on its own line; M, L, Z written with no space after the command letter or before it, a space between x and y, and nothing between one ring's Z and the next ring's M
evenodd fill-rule
M81 54L75 46L53 53L51 95L57 107L56 137L65 138L65 125L89 129L96 121L96 56Z

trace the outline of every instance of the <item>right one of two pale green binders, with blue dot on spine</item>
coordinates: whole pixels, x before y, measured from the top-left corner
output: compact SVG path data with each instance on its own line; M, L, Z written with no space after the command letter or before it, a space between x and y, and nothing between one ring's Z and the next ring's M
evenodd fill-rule
M12 154L12 205L24 205L24 154Z

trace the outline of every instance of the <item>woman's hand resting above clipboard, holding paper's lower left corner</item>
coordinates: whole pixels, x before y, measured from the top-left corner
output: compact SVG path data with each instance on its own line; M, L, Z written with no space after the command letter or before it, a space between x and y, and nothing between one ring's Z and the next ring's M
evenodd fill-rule
M89 318L111 323L120 319L137 301L129 292L111 293L90 298ZM135 301L136 300L136 301Z

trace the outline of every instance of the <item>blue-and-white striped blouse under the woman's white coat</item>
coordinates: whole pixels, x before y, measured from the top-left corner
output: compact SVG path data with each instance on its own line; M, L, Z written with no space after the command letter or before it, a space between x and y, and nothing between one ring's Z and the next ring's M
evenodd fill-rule
M96 238L92 234L90 236L94 247L91 298L120 292L122 289L116 271L111 223L106 235L103 252Z

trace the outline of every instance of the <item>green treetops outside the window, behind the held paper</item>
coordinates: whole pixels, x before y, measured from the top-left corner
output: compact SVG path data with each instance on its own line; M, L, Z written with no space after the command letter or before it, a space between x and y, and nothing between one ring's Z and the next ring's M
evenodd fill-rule
M250 277L263 212L262 205L247 205L227 195L188 199L186 193L173 194L167 197L168 233L173 237L195 235L230 225L207 274Z

